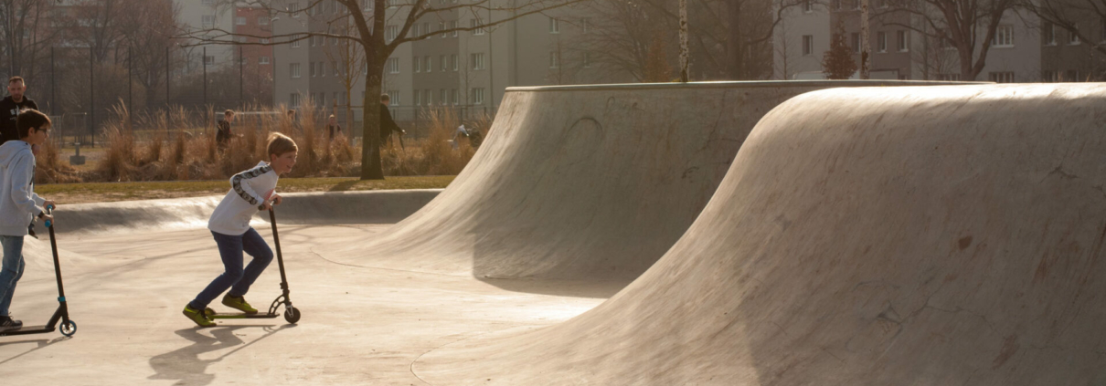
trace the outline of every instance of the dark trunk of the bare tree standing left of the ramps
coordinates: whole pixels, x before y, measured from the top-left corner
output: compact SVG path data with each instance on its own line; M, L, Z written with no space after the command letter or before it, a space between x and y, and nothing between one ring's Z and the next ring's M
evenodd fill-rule
M365 76L364 114L361 122L361 179L384 180L380 164L380 88L383 86L384 63L366 61L368 75Z

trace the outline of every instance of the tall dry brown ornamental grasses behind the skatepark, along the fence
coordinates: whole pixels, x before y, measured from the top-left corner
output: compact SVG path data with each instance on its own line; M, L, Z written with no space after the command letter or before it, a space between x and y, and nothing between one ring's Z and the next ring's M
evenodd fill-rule
M267 140L274 131L288 135L299 146L298 162L289 176L359 174L361 144L344 135L327 140L325 127L311 118L316 116L312 106L301 107L298 121L280 112L286 111L283 106L260 111L263 114L251 119L236 119L234 138L226 151L220 151L215 141L216 112L211 108L200 114L176 108L132 116L119 104L104 125L106 147L91 172L80 173L61 164L54 147L39 162L40 170L45 172L40 180L43 183L225 180L259 161L268 161ZM393 138L392 146L382 149L385 175L455 175L469 162L476 152L470 141L460 138L457 150L449 141L453 128L460 125L458 118L450 110L430 111L430 117L432 128L427 138L405 139L405 147ZM468 125L487 128L490 120L486 117Z

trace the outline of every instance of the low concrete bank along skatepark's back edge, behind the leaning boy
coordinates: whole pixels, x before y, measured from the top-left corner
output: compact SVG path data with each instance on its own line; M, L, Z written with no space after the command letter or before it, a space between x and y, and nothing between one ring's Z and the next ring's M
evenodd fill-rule
M439 192L439 189L427 189L285 193L276 218L284 224L388 224L415 213ZM222 197L60 203L55 230L83 234L202 228ZM254 216L255 222L268 222L268 214L262 213Z

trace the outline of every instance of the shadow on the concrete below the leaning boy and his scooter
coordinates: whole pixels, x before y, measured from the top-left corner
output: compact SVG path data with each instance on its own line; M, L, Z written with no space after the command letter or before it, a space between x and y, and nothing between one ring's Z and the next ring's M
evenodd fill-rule
M175 331L177 335L191 341L192 344L149 358L149 366L154 368L156 374L150 375L147 379L178 379L178 382L174 383L175 386L209 385L215 380L216 375L207 374L208 365L222 361L223 358L237 353L239 350L246 349L281 330L292 326L294 326L294 324L285 324L279 328L260 324L239 324L210 329L191 328L177 330ZM262 328L265 331L265 334L251 341L250 343L244 343L240 337L238 337L238 335L234 335L234 331L250 328ZM211 336L201 334L200 331L210 331ZM241 346L213 360L200 358L200 355L204 353L238 345Z

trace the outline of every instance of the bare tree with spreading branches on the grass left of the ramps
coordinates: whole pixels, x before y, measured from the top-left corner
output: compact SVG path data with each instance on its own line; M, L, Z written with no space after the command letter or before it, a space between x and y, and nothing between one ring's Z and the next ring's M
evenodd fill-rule
M369 7L365 7L366 1L369 2ZM307 40L313 36L325 36L354 42L356 45L361 46L365 55L365 64L367 67L365 95L367 97L380 95L382 84L384 82L385 64L387 63L388 56L390 56L400 44L424 40L444 32L487 29L526 15L546 12L565 6L583 3L585 1L589 0L529 0L518 2L508 2L503 0L471 0L461 2L439 2L430 0L311 0L302 10L289 8L286 1L284 0L249 0L242 1L242 3L263 7L273 15L286 17L292 17L303 10L311 10L315 8L321 9L327 3L340 6L343 9L343 12L333 17L332 20L348 19L353 25L353 31L356 31L356 33L351 34L345 33L345 31L307 31L273 34L271 36L272 41L268 44L286 44L290 42ZM296 4L299 4L299 2L296 2ZM366 8L374 11L366 12ZM503 14L503 17L492 18L490 20L480 20L479 23L469 26L456 26L435 32L427 31L421 34L411 33L411 29L422 18L442 18L448 12L463 11L468 11L472 14L490 13L494 11ZM386 40L385 35L389 34L389 29L386 29L386 25L388 25L389 22L397 22L398 25L396 25L397 28L393 30L395 36L388 36L393 39ZM192 31L186 34L186 37L198 41L197 44L262 44L240 43L233 39L240 36L262 37L249 34L239 34L220 28ZM362 136L363 147L361 178L363 180L380 180L384 179L384 171L380 164L379 136L377 136L379 132L380 111L379 107L374 104L365 105L364 119L362 120L364 135Z

